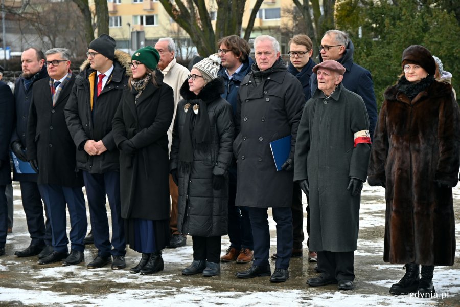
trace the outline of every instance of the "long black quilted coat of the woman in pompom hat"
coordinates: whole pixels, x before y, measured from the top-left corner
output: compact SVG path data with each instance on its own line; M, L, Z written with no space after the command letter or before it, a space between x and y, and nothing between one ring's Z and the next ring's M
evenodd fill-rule
M232 160L234 124L232 106L220 95L225 90L220 78L213 79L195 95L185 81L180 89L184 98L177 105L171 146L171 169L178 169L179 199L177 228L181 233L196 236L227 234L228 167ZM186 119L184 105L190 99L201 99L208 106L212 144L206 150L193 149L189 170L179 166L179 147ZM189 108L188 112L193 112ZM213 189L213 176L223 175L225 185Z

